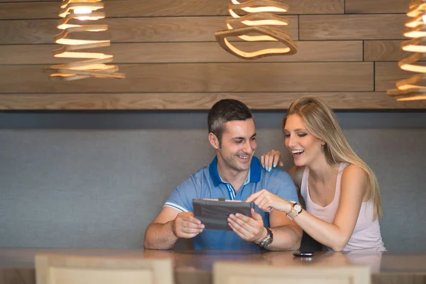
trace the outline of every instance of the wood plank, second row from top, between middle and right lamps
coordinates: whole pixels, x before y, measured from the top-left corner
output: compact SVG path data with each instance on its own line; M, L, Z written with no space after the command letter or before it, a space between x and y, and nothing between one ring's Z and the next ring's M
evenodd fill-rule
M404 39L406 20L402 14L302 15L300 40Z

